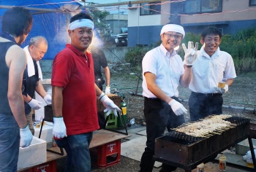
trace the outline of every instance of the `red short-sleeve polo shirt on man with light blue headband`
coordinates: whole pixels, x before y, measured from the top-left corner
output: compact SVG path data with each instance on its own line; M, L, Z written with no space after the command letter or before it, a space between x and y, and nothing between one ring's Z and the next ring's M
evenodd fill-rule
M51 85L64 88L62 114L67 136L99 129L91 52L85 55L67 44L53 60Z

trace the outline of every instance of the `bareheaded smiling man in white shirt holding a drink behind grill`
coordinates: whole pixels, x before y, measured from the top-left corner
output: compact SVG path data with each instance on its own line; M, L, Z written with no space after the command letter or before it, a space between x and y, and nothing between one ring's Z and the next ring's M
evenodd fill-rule
M203 47L197 53L192 64L192 79L189 89L189 114L191 121L199 120L211 114L222 114L222 93L236 78L233 58L227 52L219 50L222 33L218 28L206 28L200 42ZM218 83L225 80L225 87Z

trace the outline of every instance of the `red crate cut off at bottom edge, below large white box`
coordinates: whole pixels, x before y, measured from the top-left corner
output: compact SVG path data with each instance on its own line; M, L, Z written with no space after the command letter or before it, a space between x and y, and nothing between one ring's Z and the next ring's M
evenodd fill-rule
M56 160L50 161L48 163L39 164L33 168L29 168L28 170L22 172L56 172L57 171L57 163Z

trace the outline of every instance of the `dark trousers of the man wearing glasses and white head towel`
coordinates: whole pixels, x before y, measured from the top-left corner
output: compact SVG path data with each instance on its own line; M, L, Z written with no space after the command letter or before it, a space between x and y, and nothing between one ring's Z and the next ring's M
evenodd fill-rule
M178 98L174 98L178 101ZM140 160L140 172L151 172L154 167L154 146L155 138L162 136L165 128L176 128L185 122L184 116L176 116L170 105L160 99L144 98L144 116L146 119L147 141L145 152ZM176 167L162 164L162 168L169 171L176 170Z

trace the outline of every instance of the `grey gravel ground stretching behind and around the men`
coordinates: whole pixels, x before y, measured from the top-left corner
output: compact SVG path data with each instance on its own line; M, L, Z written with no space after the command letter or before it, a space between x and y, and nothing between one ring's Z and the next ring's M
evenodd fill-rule
M129 74L129 71L111 71L111 90L118 91L125 95L127 102L127 120L135 118L135 122L142 125L143 117L143 97L131 95L130 93L142 93L141 80L138 82L138 77L134 74ZM241 74L234 80L230 86L229 92L223 95L224 105L229 108L223 108L223 114L231 114L238 117L246 117L251 119L252 123L256 123L255 108L256 108L256 73ZM46 77L47 78L47 77ZM50 78L50 77L49 77ZM138 89L137 89L138 87ZM184 106L188 109L187 100L190 95L188 88L178 88L181 100ZM185 117L189 122L189 114ZM140 162L121 156L121 163L113 165L109 168L99 169L92 167L91 171L139 171ZM58 171L64 171L64 158L58 160ZM154 168L154 172L159 171ZM177 169L176 172L183 171Z

